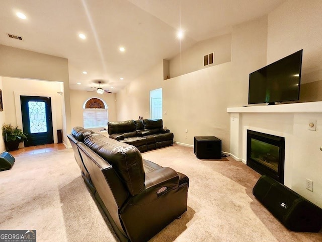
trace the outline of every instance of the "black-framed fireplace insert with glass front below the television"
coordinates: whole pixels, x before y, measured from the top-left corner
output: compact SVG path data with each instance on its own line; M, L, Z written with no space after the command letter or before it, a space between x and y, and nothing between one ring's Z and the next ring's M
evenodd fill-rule
M247 165L284 184L285 139L247 130Z

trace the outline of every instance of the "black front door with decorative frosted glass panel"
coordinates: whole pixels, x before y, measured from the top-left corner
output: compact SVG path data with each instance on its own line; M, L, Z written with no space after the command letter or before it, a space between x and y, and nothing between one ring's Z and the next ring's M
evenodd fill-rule
M20 96L25 147L54 143L50 97Z

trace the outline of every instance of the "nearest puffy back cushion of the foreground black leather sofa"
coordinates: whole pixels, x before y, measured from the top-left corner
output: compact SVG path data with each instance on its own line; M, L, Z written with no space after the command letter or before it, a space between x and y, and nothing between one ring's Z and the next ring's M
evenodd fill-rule
M84 144L113 166L132 196L145 189L142 156L136 147L100 134L87 136Z

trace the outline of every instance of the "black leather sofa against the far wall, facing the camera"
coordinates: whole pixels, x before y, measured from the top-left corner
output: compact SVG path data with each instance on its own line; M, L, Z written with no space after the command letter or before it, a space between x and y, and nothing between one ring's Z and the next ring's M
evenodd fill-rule
M134 145L143 152L173 145L173 133L163 128L162 119L139 119L123 122L109 122L110 138Z

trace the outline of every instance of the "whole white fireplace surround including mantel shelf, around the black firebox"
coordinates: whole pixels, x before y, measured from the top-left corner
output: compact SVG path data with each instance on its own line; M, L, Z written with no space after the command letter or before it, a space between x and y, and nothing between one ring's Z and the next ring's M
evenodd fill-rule
M247 130L284 137L284 185L322 207L322 186L305 189L306 178L322 184L322 101L228 107L227 112L230 155L247 163Z

